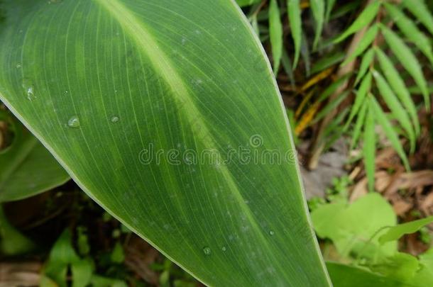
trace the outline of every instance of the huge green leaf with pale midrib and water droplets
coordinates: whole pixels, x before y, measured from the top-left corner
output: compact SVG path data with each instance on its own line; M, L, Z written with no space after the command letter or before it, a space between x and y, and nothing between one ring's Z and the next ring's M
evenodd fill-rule
M208 285L329 286L234 1L5 3L1 99L89 196Z

